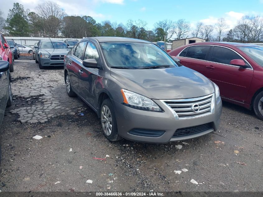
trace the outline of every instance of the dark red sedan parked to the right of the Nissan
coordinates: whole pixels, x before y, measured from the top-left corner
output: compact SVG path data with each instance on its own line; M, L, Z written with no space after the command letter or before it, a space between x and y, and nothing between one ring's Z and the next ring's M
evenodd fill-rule
M179 47L169 54L215 82L223 100L253 109L263 120L263 47L203 42Z

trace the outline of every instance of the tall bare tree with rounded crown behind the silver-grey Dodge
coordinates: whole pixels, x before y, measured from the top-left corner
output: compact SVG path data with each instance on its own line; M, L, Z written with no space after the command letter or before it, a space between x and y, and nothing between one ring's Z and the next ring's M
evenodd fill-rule
M63 17L66 16L64 10L51 1L45 1L36 7L37 14L45 21L43 28L47 31L48 36L58 37Z

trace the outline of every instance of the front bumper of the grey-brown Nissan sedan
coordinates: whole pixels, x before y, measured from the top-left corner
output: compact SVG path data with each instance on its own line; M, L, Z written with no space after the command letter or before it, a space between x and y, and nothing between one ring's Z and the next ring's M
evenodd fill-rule
M164 110L164 112L138 110L124 106L116 101L112 101L115 109L118 133L121 137L136 142L168 143L170 141L196 138L218 129L222 112L221 99L217 102L217 104L215 104L215 111L213 114L185 120L176 120L172 112L161 101L154 101ZM173 137L177 129L193 127L206 123L211 124L210 129L194 134ZM154 131L164 131L164 133L159 137L147 137L130 134L129 132L134 129L151 130L152 133L154 133Z

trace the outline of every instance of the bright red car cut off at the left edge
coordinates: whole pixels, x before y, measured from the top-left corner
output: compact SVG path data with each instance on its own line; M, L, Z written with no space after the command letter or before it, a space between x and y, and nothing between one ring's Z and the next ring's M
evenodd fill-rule
M0 56L2 57L2 60L9 62L9 70L10 72L14 71L14 66L13 66L13 51L10 49L6 39L4 36L0 33Z

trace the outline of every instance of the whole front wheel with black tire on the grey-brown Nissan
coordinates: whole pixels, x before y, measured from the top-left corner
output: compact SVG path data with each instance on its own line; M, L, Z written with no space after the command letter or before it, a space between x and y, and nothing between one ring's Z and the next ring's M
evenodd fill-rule
M101 104L100 117L104 136L111 142L121 140L122 137L118 134L115 111L109 98L105 99Z

